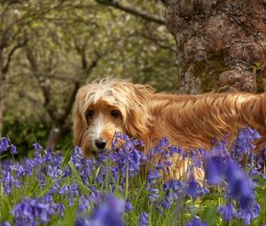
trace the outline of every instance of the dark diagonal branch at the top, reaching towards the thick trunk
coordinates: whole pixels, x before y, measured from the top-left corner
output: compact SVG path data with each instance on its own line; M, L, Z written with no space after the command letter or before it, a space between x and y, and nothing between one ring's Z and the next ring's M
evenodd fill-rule
M164 19L161 19L160 17L153 16L152 14L150 14L148 12L140 11L134 7L122 5L122 4L119 4L119 3L112 1L112 0L95 0L95 1L98 4L105 4L107 6L111 6L115 9L119 9L123 12L128 12L129 14L140 17L140 18L145 19L149 22L154 22L154 23L157 23L160 25L165 25Z

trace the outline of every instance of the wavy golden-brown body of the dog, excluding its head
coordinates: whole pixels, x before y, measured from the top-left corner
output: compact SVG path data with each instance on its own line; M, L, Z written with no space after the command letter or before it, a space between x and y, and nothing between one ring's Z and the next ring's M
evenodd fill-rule
M256 129L262 139L255 142L255 152L266 146L266 95L247 93L207 93L172 95L157 93L149 103L156 123L153 140L168 136L184 149L209 149L215 137L228 135L229 144L239 129Z

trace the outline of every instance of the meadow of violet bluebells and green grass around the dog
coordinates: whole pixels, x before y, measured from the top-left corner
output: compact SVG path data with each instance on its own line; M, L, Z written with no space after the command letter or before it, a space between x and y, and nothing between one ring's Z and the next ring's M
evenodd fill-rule
M253 153L260 138L240 129L230 150L225 137L209 151L183 152L164 137L145 155L141 141L116 134L116 151L97 158L84 159L79 147L63 154L33 144L32 157L18 161L20 147L3 137L0 225L263 225L266 148L264 156ZM183 178L167 180L169 168L183 160L190 162ZM195 168L205 171L200 183Z

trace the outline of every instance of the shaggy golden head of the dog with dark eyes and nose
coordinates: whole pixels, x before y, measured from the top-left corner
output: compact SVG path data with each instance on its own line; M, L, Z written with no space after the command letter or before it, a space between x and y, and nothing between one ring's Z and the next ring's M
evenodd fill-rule
M111 150L115 132L144 139L151 121L146 104L152 94L151 87L114 79L83 86L74 105L74 144L89 156Z

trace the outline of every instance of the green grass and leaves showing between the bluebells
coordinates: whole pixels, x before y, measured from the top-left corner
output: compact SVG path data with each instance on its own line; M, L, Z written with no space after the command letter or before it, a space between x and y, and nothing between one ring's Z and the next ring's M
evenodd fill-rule
M74 225L74 221L77 217L82 217L82 214L77 214L77 207L79 203L80 195L85 196L91 193L90 187L94 186L98 191L102 193L113 192L110 181L113 181L112 173L109 166L113 166L112 161L107 160L106 163L106 184L95 183L96 176L100 173L100 168L94 168L90 172L90 177L88 178L88 184L84 185L82 183L82 175L79 174L78 170L75 168L73 161L69 160L68 155L64 157L62 168L66 169L71 168L72 173L68 177L59 176L59 178L52 178L49 175L45 176L45 185L41 185L38 179L38 170L37 168L33 171L33 175L23 176L23 183L20 188L12 188L12 194L4 196L3 186L0 185L0 222L9 221L12 222L12 215L10 214L13 207L15 207L19 202L21 197L27 197L29 199L38 199L42 198L44 194L48 193L51 188L59 183L59 186L71 185L73 183L79 184L81 188L80 194L76 195L73 200L73 205L69 205L67 196L59 195L55 193L53 195L53 200L55 203L62 203L66 207L64 217L61 218L59 214L55 214L51 218L50 225ZM47 168L45 169L47 170ZM256 195L258 202L261 205L261 214L257 217L252 225L262 225L265 219L265 210L266 210L266 181L262 176L258 176L257 183L260 183L260 186L256 187ZM180 199L169 209L164 210L163 214L158 212L158 209L155 204L151 203L147 199L148 191L146 190L146 178L141 178L139 175L130 179L128 183L124 185L123 191L118 189L120 181L114 183L116 190L114 195L121 199L128 199L134 209L129 212L129 214L124 214L124 221L126 225L138 225L139 215L143 212L149 214L150 225L159 226L159 225L184 225L184 222L192 219L194 215L200 216L203 222L207 222L209 226L219 225L242 225L242 222L239 220L234 220L230 223L223 222L220 214L217 212L217 207L219 205L224 205L223 195L224 188L214 188L212 191L207 194L204 198L197 198L195 200L189 199ZM162 187L162 181L158 181L156 187ZM162 199L163 192L160 190L159 199ZM222 203L221 203L222 202ZM4 207L4 208L3 208ZM92 211L91 206L88 209L89 213ZM88 214L88 213L87 213ZM83 214L86 215L86 214Z

